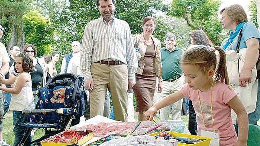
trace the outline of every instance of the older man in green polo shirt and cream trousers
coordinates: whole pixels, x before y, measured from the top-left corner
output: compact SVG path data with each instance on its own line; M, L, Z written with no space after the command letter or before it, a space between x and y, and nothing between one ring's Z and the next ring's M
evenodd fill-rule
M181 55L183 51L176 47L176 37L173 33L167 33L164 39L166 47L161 48L163 66L163 92L159 93L160 99L165 98L181 89L183 86ZM181 119L181 108L183 99L172 104L172 119ZM169 120L170 106L160 110L161 120Z

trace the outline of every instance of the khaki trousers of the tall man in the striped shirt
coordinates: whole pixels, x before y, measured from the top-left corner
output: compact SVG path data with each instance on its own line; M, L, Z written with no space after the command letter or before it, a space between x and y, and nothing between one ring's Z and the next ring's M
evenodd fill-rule
M90 93L90 118L103 116L107 89L112 96L114 117L118 121L127 121L128 70L126 65L91 64L94 88Z

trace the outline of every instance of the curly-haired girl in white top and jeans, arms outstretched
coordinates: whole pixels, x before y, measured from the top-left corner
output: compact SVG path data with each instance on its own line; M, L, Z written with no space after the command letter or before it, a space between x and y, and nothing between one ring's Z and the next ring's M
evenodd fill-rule
M14 146L17 146L21 141L23 134L25 133L25 127L19 126L20 123L26 122L26 116L22 114L22 110L25 108L34 109L34 96L32 93L32 80L30 72L34 70L32 65L32 59L25 53L17 55L14 61L14 68L18 76L5 79L0 75L0 83L13 84L14 88L1 87L0 90L12 93L12 99L9 109L13 111L14 120ZM30 142L31 137L27 142ZM25 144L27 145L27 144Z

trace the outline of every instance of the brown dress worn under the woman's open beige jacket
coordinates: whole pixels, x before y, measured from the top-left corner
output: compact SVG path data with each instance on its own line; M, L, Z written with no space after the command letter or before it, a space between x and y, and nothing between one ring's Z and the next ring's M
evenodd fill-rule
M147 111L152 106L156 86L154 70L155 45L147 45L144 55L145 65L142 75L135 74L136 84L133 87L136 98L136 111Z

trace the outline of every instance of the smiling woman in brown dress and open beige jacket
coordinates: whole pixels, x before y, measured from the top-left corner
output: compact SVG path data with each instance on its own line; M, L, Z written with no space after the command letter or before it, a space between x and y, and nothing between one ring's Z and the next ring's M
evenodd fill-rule
M136 111L139 112L138 121L146 121L144 111L152 106L156 77L159 78L158 93L162 92L161 42L152 35L155 27L155 19L145 17L142 24L144 31L134 37L138 68L133 91L137 102Z

